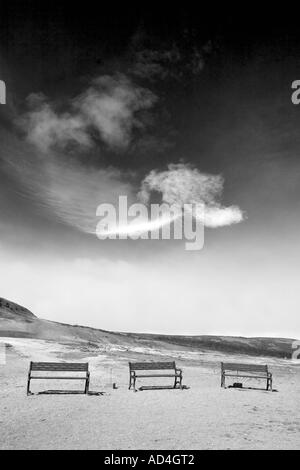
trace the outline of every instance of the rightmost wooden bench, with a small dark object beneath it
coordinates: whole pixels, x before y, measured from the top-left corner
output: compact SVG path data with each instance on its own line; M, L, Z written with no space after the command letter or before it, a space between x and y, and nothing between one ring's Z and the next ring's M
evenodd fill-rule
M221 387L225 387L226 377L265 379L266 390L272 391L273 379L267 365L221 362Z

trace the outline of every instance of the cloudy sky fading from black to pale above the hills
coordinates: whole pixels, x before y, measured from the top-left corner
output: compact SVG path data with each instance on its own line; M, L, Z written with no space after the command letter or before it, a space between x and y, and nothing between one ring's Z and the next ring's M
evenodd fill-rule
M300 338L296 22L51 5L2 6L0 296L114 331ZM201 204L203 248L100 240L119 196Z

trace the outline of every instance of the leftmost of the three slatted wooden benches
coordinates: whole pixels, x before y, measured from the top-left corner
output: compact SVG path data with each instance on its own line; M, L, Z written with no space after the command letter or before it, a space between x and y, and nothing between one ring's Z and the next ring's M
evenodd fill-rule
M47 372L48 375L36 375L37 372ZM53 375L58 372L74 372L77 375ZM78 375L81 373L81 375ZM84 373L84 375L82 375ZM27 395L32 395L30 391L31 380L85 380L84 392L87 394L89 391L90 373L88 362L30 362L27 382Z

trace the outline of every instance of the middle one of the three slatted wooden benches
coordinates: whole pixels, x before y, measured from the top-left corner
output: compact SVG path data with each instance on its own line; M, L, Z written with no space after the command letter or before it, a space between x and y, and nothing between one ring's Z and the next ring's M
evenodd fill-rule
M153 373L152 371L165 371L164 373ZM140 374L139 371L148 371L150 373ZM138 372L138 373L137 373ZM146 388L180 388L182 389L182 370L176 367L173 362L129 362L129 390L135 388L137 378L142 377L173 377L174 385L172 387L141 387Z

